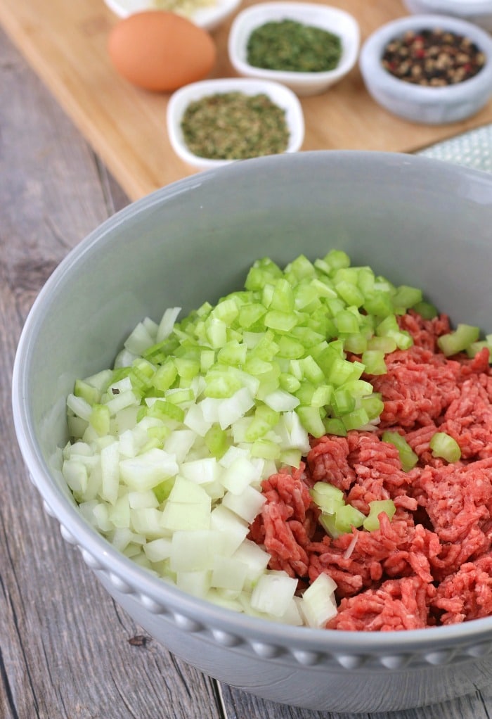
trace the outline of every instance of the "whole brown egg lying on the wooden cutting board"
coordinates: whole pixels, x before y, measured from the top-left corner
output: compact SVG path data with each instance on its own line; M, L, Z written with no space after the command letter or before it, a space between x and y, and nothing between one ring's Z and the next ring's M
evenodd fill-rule
M208 32L163 10L137 12L120 20L108 37L108 52L126 80L160 92L203 80L217 58Z

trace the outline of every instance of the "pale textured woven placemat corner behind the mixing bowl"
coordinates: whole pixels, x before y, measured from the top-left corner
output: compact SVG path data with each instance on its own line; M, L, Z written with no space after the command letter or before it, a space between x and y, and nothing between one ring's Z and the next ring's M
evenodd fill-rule
M492 173L492 124L438 142L416 154Z

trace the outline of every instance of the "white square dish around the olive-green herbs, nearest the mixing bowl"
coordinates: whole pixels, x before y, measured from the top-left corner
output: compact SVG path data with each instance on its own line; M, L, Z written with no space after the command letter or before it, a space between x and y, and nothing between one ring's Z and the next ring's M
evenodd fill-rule
M200 170L217 168L237 160L211 160L199 157L191 152L185 142L181 129L182 116L191 102L217 93L241 92L245 95L264 93L272 102L285 110L285 119L289 128L289 143L285 152L297 152L304 141L304 114L300 101L289 88L269 80L248 78L219 78L190 83L172 94L167 104L167 134L176 154L188 165Z

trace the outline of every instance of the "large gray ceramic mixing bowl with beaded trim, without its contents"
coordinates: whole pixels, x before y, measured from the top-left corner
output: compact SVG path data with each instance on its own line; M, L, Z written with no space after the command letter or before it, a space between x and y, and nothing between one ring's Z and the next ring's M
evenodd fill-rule
M237 162L138 201L80 242L34 303L13 379L19 445L48 513L106 590L203 672L317 710L415 707L492 679L492 617L384 633L281 626L184 595L137 567L78 513L57 462L75 377L107 367L146 314L238 288L257 257L345 249L420 285L452 320L490 331L492 177L409 155L305 152ZM53 351L53 348L56 348Z

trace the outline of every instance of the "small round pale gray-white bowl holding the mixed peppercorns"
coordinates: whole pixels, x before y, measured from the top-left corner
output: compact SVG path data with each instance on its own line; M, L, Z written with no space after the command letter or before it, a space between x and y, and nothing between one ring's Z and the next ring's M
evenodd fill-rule
M445 87L419 86L391 75L381 64L386 45L407 30L440 27L469 37L486 55L477 75ZM359 66L371 97L391 113L420 124L459 122L476 114L492 96L492 38L475 24L445 15L412 15L388 22L368 37Z

